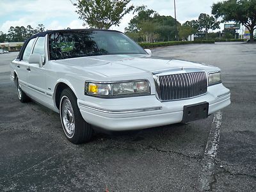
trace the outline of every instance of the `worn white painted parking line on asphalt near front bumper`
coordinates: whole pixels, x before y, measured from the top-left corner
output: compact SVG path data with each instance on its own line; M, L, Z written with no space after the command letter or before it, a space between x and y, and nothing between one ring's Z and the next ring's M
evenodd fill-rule
M214 114L211 131L204 151L204 158L202 159L202 171L198 176L200 191L210 191L211 183L214 182L214 159L218 153L221 118L221 111Z

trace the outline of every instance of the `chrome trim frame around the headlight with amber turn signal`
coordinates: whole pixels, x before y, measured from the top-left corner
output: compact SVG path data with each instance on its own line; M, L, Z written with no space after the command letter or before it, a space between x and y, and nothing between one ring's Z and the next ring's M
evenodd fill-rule
M123 94L123 95L92 95L88 94L88 83L101 83L101 84L111 84L111 88L113 89L113 83L130 83L130 82L140 82L140 81L147 81L149 92L148 93L131 93L131 94ZM151 86L148 79L136 79L136 80L125 80L125 81L85 81L84 83L84 95L90 97L98 97L104 99L117 99L117 98L124 98L124 97L139 97L139 96L147 96L151 95Z

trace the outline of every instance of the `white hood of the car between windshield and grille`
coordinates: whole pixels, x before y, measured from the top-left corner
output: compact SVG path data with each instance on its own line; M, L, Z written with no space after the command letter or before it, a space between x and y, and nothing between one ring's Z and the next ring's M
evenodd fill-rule
M90 56L83 58L70 58L66 60L56 60L56 63L67 67L77 68L79 71L90 71L102 76L125 76L129 74L150 74L165 70L180 70L180 68L194 68L195 70L214 70L216 67L193 63L182 60L170 60L166 58L154 58L148 55L106 55Z

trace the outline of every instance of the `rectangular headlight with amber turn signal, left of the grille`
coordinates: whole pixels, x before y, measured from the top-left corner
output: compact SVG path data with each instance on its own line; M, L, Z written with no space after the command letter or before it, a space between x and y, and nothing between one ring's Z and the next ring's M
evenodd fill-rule
M129 97L132 95L150 94L148 81L127 81L114 83L93 83L86 82L84 93L95 96Z

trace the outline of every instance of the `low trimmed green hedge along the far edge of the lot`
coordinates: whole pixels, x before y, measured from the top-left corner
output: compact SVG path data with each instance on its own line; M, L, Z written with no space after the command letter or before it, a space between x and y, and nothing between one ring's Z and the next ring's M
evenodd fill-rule
M203 41L194 41L194 42L157 42L157 43L139 43L141 47L144 49L154 48L154 47L164 47L164 46L172 46L172 45L185 45L185 44L214 44L213 40L203 40Z

